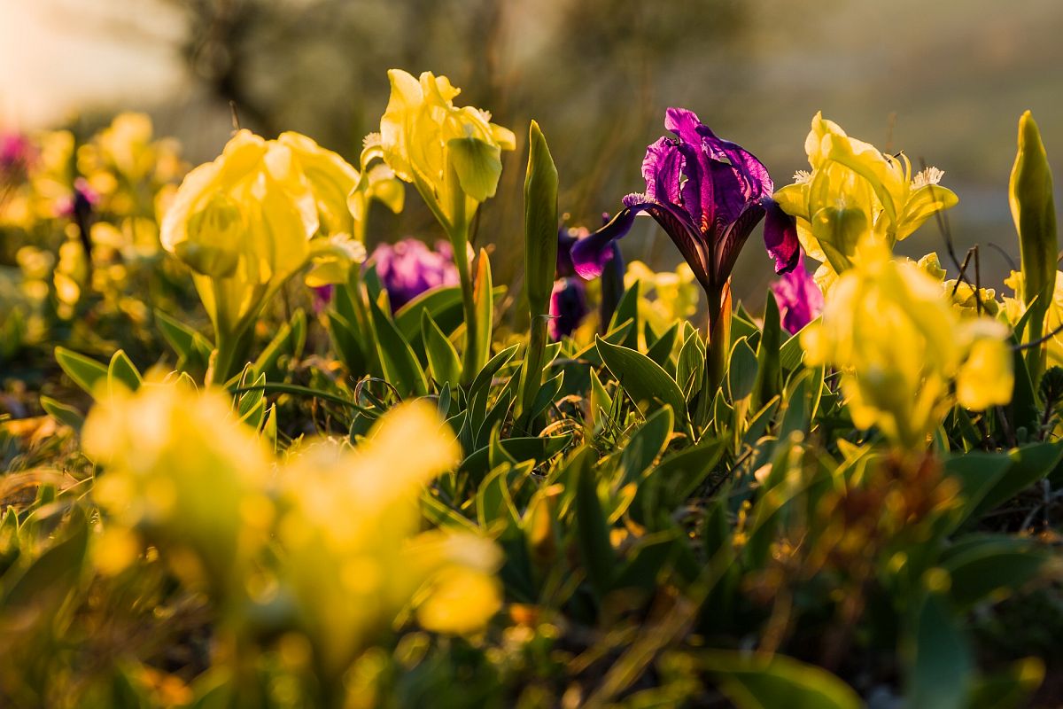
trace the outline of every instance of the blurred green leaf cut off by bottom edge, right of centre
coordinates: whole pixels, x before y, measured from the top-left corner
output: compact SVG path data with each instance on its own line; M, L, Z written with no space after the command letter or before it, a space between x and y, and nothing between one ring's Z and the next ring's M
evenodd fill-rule
M841 679L781 655L761 657L728 651L692 656L715 675L738 709L859 709L860 697ZM918 705L913 705L918 706Z

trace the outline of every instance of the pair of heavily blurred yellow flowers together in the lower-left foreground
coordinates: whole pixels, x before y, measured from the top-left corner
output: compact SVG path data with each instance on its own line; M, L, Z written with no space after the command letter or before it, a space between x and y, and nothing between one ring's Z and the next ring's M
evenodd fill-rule
M283 595L333 677L406 609L469 634L500 608L493 542L420 531L421 491L459 457L428 404L396 407L355 449L321 441L276 460L213 390L146 384L100 400L84 446L104 469L102 571L150 544L222 609Z

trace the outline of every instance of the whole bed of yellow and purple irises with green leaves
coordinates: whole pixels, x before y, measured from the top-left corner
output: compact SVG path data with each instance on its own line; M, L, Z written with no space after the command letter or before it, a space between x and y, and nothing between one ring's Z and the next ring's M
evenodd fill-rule
M0 138L0 706L1059 704L1029 113L997 284L895 254L959 200L821 115L776 190L670 108L596 231L530 121L523 249L476 254L516 136L389 79L352 163L243 130L185 174L139 114ZM435 248L370 219L405 183ZM638 215L674 270L625 264Z

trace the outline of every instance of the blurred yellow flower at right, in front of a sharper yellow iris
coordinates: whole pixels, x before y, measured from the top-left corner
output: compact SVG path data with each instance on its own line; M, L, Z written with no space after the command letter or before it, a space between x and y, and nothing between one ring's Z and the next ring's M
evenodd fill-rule
M900 446L919 450L951 405L954 381L966 408L1011 400L1007 336L1007 326L990 318L961 318L939 282L867 238L802 344L809 364L842 371L857 426L877 425Z

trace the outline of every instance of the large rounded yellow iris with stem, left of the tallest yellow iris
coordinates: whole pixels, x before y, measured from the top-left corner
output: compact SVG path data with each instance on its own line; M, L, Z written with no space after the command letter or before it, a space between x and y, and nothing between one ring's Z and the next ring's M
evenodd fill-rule
M351 234L360 236L365 210L355 215L348 205L360 183L355 168L306 136L266 140L246 130L186 175L161 240L192 269L217 336L216 378L239 366L240 338L307 263L319 263L309 280L323 285L343 281L347 267L364 258Z

